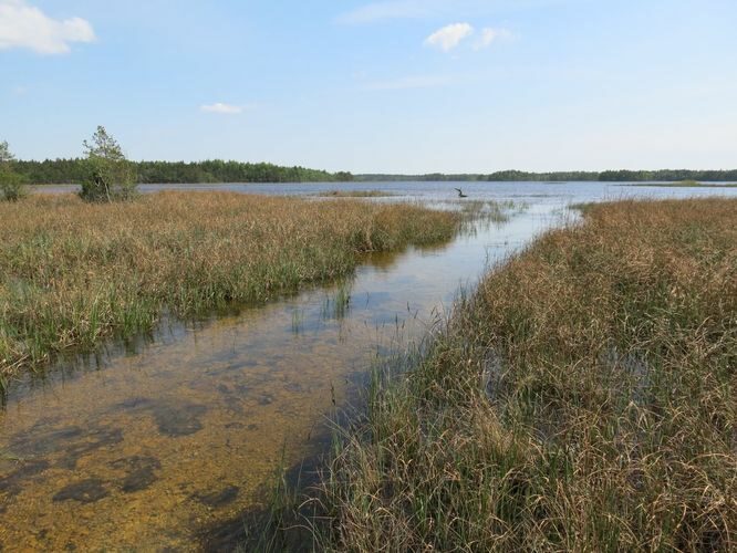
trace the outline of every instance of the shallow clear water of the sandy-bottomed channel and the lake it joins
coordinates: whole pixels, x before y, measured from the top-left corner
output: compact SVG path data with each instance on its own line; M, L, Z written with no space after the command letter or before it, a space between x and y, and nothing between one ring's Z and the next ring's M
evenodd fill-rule
M272 186L255 191L298 185ZM0 414L0 549L198 549L208 529L259 504L277 467L323 447L325 420L377 357L422 340L459 286L570 217L568 204L622 190L689 195L600 184L456 186L471 199L529 207L444 247L367 258L350 282L173 324L153 342L111 346L13 384ZM398 194L391 201L437 201L453 185L362 187Z

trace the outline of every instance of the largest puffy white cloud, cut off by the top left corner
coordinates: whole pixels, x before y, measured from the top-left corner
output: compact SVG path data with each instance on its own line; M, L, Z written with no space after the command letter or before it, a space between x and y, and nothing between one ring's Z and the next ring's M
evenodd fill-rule
M92 25L84 19L55 20L25 0L0 0L0 50L27 48L40 54L65 54L70 43L94 40Z

